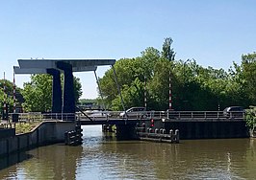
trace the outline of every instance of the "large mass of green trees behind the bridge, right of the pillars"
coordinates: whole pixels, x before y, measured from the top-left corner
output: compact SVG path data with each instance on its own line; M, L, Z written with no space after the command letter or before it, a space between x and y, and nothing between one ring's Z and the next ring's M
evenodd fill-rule
M126 108L144 104L147 109L166 110L171 80L174 110L222 110L226 106L248 107L256 101L256 54L242 56L228 72L202 67L194 59L175 60L172 39L166 38L163 51L146 48L141 56L122 58L115 72ZM146 79L146 88L144 88ZM114 110L122 110L113 69L100 79L104 101Z

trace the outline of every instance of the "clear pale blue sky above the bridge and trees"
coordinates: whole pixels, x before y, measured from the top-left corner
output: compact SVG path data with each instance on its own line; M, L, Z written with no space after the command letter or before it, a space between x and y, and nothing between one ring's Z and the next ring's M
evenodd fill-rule
M255 0L0 0L0 79L13 81L20 58L115 58L161 51L228 70L256 52ZM100 66L102 78L109 66ZM2 77L1 77L2 76ZM93 72L80 78L83 99L98 96ZM30 75L16 75L16 85Z

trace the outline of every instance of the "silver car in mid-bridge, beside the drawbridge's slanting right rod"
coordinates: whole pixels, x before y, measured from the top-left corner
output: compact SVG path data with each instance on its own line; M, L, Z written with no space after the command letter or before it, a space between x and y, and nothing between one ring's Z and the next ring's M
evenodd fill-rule
M146 118L146 108L145 107L131 107L126 111L123 111L119 114L120 118Z

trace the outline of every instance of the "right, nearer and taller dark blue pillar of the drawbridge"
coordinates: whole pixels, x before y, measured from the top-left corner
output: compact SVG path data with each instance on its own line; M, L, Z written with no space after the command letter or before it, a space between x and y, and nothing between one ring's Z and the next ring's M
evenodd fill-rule
M66 120L75 120L75 96L74 96L74 79L72 65L65 62L57 62L57 67L64 71L64 103L63 113L69 114ZM73 115L72 115L73 114Z

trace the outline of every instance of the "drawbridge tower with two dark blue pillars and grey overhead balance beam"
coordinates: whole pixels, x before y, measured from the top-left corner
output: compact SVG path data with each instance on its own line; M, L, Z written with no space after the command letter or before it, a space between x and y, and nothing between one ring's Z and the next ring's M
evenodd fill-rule
M114 65L115 59L18 59L15 74L49 74L53 77L52 113L75 113L73 72L96 71L97 66ZM61 73L64 73L62 95ZM75 116L70 116L74 121Z

